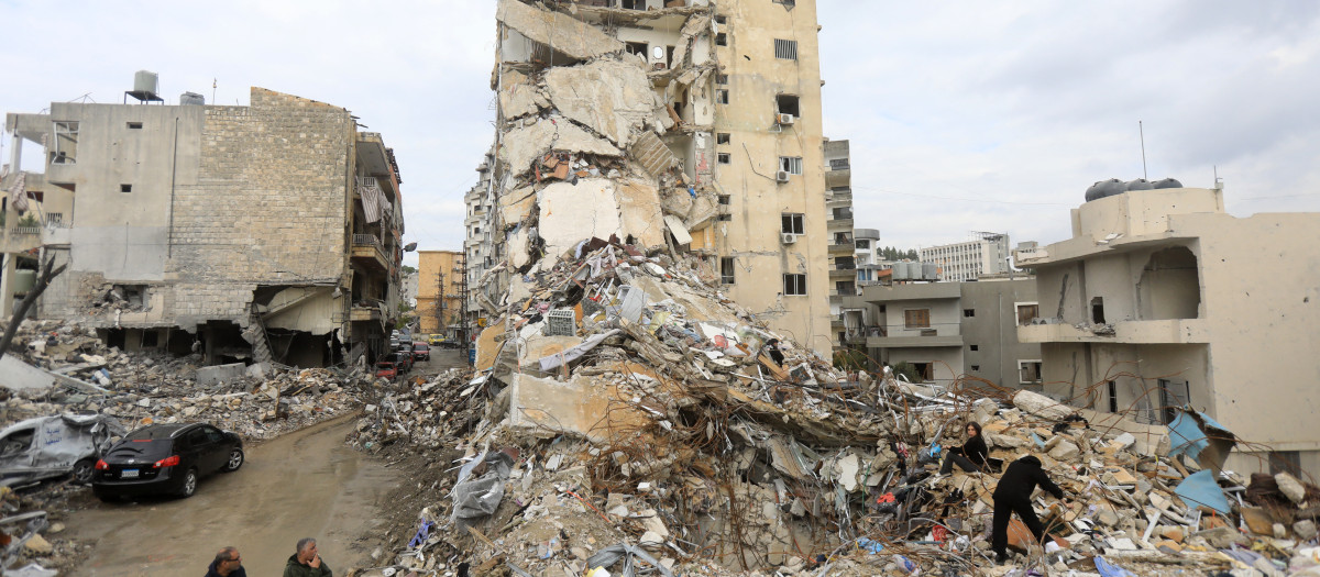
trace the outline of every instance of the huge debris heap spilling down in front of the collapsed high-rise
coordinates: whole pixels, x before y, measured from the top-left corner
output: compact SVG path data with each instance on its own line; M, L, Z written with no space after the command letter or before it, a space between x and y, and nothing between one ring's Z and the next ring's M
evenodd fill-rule
M628 557L664 574L1175 574L1282 570L1315 543L1316 487L1220 472L1232 433L1195 411L1171 428L1030 391L853 379L723 299L698 260L599 238L577 253L515 279L475 378L368 404L355 443L426 451L436 474L397 555L360 574L586 574L611 547L611 573ZM966 422L1001 466L1045 464L1069 501L1038 508L1064 548L1022 543L994 566L1002 468L933 476Z

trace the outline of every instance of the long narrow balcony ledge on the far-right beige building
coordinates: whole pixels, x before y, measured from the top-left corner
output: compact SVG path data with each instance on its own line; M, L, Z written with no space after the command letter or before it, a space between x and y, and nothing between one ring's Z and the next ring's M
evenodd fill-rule
M1119 345L1143 344L1200 344L1209 343L1205 319L1121 320L1113 332L1077 328L1067 323L1028 324L1018 327L1019 343L1113 343Z

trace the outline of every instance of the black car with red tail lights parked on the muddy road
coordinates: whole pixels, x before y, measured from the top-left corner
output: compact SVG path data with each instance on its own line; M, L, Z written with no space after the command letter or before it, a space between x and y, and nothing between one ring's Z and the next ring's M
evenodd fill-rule
M96 461L91 489L102 501L174 494L191 497L197 481L243 466L243 440L210 424L153 424L124 436Z

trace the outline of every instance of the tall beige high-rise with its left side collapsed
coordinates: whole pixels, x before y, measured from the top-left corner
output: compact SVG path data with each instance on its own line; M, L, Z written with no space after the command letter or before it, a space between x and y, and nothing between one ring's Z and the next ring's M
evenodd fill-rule
M814 3L502 0L496 18L473 320L525 298L541 260L616 237L702 257L702 281L828 353L832 256L853 248L850 224L828 234Z

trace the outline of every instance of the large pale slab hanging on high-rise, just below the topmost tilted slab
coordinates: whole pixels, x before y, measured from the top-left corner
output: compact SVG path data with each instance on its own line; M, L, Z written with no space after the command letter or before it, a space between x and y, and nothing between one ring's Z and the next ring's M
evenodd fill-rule
M545 90L561 115L591 128L619 146L653 119L651 80L640 66L599 59L545 72Z

